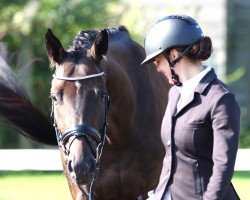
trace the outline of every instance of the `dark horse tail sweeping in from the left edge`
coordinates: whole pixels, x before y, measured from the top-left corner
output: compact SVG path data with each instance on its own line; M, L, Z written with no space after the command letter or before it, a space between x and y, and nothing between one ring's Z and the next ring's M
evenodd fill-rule
M56 145L50 120L31 103L17 76L0 56L0 119L19 128L23 135L38 142Z

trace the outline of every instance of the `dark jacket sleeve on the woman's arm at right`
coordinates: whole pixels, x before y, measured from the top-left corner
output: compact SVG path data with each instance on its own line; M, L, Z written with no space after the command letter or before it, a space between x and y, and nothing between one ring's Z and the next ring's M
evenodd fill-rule
M211 111L213 173L203 200L222 200L230 185L238 149L240 109L232 93L224 93Z

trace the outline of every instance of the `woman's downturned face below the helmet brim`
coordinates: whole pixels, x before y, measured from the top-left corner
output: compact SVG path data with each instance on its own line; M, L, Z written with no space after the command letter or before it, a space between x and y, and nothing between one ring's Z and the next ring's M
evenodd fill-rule
M157 67L157 71L163 73L168 78L170 84L174 84L169 63L163 54L159 54L155 57L154 64Z

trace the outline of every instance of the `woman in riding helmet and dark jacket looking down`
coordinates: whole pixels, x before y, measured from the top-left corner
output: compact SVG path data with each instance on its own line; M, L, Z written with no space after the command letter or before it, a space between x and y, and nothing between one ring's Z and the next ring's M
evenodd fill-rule
M154 62L174 84L162 121L166 155L149 199L239 199L231 179L240 110L214 70L202 64L211 55L211 39L191 17L171 15L149 30L145 51L142 64Z

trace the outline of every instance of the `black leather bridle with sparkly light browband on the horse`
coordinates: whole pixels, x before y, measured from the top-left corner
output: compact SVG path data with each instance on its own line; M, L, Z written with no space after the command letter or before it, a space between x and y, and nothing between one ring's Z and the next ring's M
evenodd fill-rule
M100 77L100 76L104 76L104 75L105 75L104 72L100 72L97 74L91 74L91 75L87 75L87 76L80 76L80 77L64 77L64 76L57 76L57 75L53 74L53 78L58 79L58 80L64 80L64 81L81 81L81 80L96 78L96 77ZM109 109L109 104L110 104L109 95L105 94L104 99L105 99L105 102L104 102L105 103L105 105L104 105L104 109L105 109L104 110L105 111L104 112L104 122L103 122L103 126L102 126L100 131L96 130L94 127L91 127L87 124L80 124L80 125L75 125L73 127L68 128L63 133L57 127L57 123L56 123L56 120L54 118L54 101L52 100L51 116L54 119L54 128L55 128L55 132L56 132L58 146L61 147L64 151L66 163L68 162L67 157L70 154L70 147L71 147L72 143L74 142L75 139L81 138L81 137L86 139L87 143L91 147L92 153L94 154L94 156L96 158L95 159L96 160L95 175L94 175L93 181L90 185L89 195L87 195L86 192L83 191L82 188L77 184L78 188L82 191L82 193L85 195L85 197L88 198L89 200L93 200L94 184L95 184L95 180L96 180L96 177L97 177L97 174L99 171L99 163L100 163L100 158L102 155L103 146L105 143L107 126L108 126L108 109ZM66 144L67 144L69 138L71 138L71 137L74 137L74 138L71 140L69 147L67 148Z

